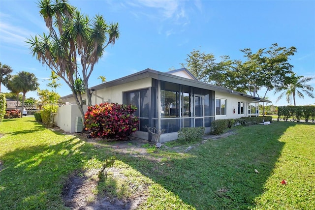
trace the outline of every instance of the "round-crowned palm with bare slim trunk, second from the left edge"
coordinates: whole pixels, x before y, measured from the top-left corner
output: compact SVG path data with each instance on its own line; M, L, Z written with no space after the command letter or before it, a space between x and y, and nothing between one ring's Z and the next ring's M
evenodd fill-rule
M20 71L17 73L17 76L20 80L20 87L21 92L23 93L22 96L22 111L21 111L21 118L23 116L23 108L24 108L24 101L25 101L25 95L28 91L37 90L39 84L37 82L37 78L35 77L35 74L27 72L27 71Z

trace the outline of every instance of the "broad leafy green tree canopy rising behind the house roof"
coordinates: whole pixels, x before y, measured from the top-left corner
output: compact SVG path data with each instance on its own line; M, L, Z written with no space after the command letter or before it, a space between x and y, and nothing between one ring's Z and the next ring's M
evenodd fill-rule
M290 81L292 65L289 57L296 53L295 47L279 47L272 44L268 49L253 53L250 48L241 50L245 60L231 60L222 56L220 61L213 54L193 50L182 64L198 79L213 85L259 96L258 90L265 88L263 98L270 90L280 89Z

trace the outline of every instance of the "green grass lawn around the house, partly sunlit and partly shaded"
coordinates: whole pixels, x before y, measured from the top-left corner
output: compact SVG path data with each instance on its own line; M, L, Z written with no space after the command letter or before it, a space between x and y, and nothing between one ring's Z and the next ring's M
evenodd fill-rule
M0 209L67 209L68 177L100 170L113 155L120 176L109 173L93 193L132 199L141 188L147 199L138 209L315 209L314 123L273 122L235 132L186 153L163 148L134 155L46 129L32 117L3 120Z

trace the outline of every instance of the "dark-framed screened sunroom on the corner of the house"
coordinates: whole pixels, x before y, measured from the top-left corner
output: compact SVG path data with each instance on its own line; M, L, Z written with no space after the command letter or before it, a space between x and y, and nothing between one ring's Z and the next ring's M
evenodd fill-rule
M139 131L147 132L145 126L163 130L161 141L177 139L182 127L206 127L210 131L215 118L213 90L155 79L150 88L124 92L124 104L138 107Z

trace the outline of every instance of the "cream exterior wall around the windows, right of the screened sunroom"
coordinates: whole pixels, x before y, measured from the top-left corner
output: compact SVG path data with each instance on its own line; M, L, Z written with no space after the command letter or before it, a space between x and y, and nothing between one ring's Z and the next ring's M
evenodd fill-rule
M216 120L222 119L237 119L241 117L248 117L248 103L253 101L251 98L247 98L241 95L235 95L233 93L225 92L215 92L215 99L226 99L226 115L216 115ZM244 103L244 114L238 114L238 102ZM216 106L216 102L215 102ZM235 113L233 110L235 109ZM215 110L216 111L216 110Z

